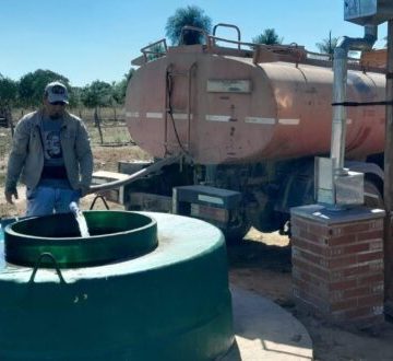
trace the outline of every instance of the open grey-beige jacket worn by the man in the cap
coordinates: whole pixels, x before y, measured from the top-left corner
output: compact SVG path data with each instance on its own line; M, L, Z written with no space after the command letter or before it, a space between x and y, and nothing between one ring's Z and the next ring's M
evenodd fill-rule
M15 127L7 170L5 191L16 189L20 176L32 189L39 182L44 167L41 117L41 110L26 114ZM93 154L86 128L80 118L69 113L64 114L60 142L71 187L84 193L92 182Z

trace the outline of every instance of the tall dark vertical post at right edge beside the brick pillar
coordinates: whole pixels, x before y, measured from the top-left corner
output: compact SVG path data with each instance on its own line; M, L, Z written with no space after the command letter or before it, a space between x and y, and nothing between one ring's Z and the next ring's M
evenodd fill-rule
M386 101L393 100L393 20L388 22ZM393 106L386 105L384 148L384 203L386 221L384 232L385 301L393 316ZM388 307L386 307L388 311Z

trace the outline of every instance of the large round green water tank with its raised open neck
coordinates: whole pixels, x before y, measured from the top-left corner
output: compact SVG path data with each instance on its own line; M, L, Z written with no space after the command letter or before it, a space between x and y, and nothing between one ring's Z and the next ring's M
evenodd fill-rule
M0 360L214 360L229 349L231 298L218 229L164 213L84 214L94 230L88 238L74 233L69 216L5 228ZM106 254L118 259L94 260Z

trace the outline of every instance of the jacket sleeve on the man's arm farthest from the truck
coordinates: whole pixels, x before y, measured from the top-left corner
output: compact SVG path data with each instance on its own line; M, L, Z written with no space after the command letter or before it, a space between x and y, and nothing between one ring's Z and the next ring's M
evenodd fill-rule
M15 127L12 139L12 148L7 167L5 191L14 191L16 189L16 184L27 155L29 136L29 124L22 118Z

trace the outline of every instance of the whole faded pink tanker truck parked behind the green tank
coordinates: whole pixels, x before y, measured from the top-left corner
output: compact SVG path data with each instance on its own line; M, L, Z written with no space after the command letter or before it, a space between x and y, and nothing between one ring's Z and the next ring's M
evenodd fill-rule
M218 38L217 26L238 39ZM181 156L129 184L124 203L207 220L227 238L251 225L285 232L290 207L314 202L314 156L331 149L332 61L297 45L241 43L236 26L216 27L204 45L163 39L133 60L131 137L155 160ZM384 100L382 67L349 59L348 69L347 101ZM366 202L381 205L384 107L348 107L346 124L345 166L365 173Z

